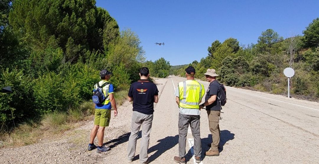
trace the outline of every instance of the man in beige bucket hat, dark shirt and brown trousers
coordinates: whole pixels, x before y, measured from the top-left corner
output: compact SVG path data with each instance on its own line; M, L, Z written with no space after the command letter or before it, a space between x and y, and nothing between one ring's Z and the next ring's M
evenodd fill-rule
M219 140L220 140L220 130L219 130L219 117L221 105L220 101L217 101L217 95L220 95L220 84L216 80L218 76L214 69L207 69L204 73L206 80L209 82L209 86L205 96L205 102L199 106L199 108L204 108L206 106L206 111L209 121L209 130L211 131L213 142L209 144L211 149L207 151L206 156L219 156Z

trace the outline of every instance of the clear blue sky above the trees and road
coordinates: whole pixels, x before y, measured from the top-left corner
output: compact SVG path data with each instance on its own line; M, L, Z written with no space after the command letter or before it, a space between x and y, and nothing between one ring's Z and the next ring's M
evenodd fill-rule
M302 35L319 17L319 0L97 0L96 5L116 19L120 30L138 35L146 60L164 57L171 65L200 61L215 40L233 37L247 45L269 28L284 38Z

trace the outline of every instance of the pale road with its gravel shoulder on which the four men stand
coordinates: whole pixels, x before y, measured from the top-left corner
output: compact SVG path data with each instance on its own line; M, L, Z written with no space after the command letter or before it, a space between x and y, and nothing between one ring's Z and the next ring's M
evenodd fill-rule
M185 78L158 79L159 102L154 110L150 136L151 163L175 163L178 155L178 113L174 89ZM204 84L205 90L208 82ZM319 163L319 103L233 87L220 121L220 155L206 157L211 142L205 110L201 112L202 163ZM127 163L132 105L125 102L105 130L106 153L86 151L92 120L62 139L0 149L0 163ZM73 137L69 135L73 134ZM193 137L187 139L188 163L194 163ZM137 156L140 139L137 141ZM134 160L132 164L139 163Z

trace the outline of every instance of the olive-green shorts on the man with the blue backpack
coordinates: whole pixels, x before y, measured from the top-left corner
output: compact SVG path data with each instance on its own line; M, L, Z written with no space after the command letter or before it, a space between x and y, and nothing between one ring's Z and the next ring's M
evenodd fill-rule
M111 119L111 109L95 109L94 125L108 126Z

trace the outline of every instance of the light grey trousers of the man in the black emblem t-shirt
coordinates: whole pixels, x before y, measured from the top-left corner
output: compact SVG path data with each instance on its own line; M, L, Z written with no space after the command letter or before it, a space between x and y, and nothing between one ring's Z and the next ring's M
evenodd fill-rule
M152 128L153 115L145 115L137 111L133 111L132 123L131 123L131 135L129 138L128 160L133 160L136 150L136 141L138 136L138 131L142 125L142 140L139 159L141 163L145 163L148 159L147 149L150 141L150 133Z

